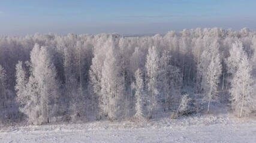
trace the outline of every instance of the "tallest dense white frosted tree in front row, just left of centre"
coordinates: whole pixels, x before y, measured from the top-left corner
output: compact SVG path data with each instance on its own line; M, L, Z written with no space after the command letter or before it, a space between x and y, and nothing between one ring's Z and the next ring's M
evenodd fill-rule
M109 49L106 53L106 59L103 63L102 79L101 79L101 102L100 105L109 120L117 119L119 100L122 97L122 76L121 68L119 67L115 43L110 39L106 43Z

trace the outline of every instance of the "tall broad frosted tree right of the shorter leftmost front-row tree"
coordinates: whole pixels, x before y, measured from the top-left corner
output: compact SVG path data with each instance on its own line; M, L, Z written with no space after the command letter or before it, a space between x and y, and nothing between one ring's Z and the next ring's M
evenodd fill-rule
M35 45L34 48L39 48L39 45ZM46 47L42 46L38 55L33 51L31 52L31 66L32 75L37 82L36 88L38 88L40 96L41 122L49 123L49 118L52 114L55 114L50 113L50 111L53 112L56 110L58 82L56 79L56 69L52 63L52 57L50 57ZM52 108L52 110L50 110L50 108Z

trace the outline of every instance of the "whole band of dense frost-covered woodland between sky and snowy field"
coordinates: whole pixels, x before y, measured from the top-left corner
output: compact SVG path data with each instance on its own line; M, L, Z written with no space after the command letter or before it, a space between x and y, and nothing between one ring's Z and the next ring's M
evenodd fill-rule
M246 117L256 105L255 50L246 28L1 37L0 120L144 122L221 108Z

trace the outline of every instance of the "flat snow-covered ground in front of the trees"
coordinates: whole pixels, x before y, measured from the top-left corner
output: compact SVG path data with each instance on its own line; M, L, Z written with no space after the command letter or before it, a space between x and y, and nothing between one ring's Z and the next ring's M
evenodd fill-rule
M256 142L256 121L224 115L2 127L0 142Z

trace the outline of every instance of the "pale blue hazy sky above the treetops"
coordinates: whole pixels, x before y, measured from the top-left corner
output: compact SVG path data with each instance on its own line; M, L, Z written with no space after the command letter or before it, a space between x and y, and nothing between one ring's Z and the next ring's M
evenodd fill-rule
M0 36L256 30L255 0L0 0Z

